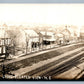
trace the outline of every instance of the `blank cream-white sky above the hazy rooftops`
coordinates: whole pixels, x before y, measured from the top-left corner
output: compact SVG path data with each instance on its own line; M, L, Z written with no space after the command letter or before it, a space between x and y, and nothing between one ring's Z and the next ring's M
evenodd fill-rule
M8 25L84 25L84 4L0 4L0 23Z

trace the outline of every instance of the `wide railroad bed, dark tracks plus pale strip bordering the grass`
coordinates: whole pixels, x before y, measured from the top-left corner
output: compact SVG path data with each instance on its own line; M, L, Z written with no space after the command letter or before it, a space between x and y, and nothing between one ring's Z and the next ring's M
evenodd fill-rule
M39 66L39 63L36 63L35 66L33 67L26 66L24 68L20 68L18 70L11 71L11 72L16 74L15 76L17 78L18 76L22 76L22 75L41 76L41 77L42 76L52 76L53 77L54 75L58 75L64 71L69 70L73 66L75 66L75 64L72 66L73 63L79 64L77 60L83 57L80 55L84 54L84 47L82 47L82 45L81 46L75 45L75 46L77 48L75 50L72 49L68 52L65 52L64 54L61 54L61 55L58 55L58 56L55 56L55 57L52 57L46 60L42 60L41 63L43 64L41 64L41 66Z

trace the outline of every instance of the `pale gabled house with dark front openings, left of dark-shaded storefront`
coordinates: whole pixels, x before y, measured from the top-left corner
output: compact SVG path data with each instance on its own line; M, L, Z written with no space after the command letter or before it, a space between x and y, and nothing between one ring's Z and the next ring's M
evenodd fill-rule
M29 50L39 47L39 35L34 30L24 30Z

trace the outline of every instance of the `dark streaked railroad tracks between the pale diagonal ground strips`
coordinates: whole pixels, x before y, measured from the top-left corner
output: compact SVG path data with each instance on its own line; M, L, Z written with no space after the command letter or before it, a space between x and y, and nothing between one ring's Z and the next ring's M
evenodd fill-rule
M79 53L79 52L73 53L64 58L56 60L52 63L44 65L36 70L26 73L25 75L34 76L34 77L35 76L48 77L48 76L55 76L60 73L63 73L65 71L71 69L73 66L76 67L76 65L80 64L81 62L84 62L84 61L80 62L81 58L84 57L84 51L82 51L81 53Z

